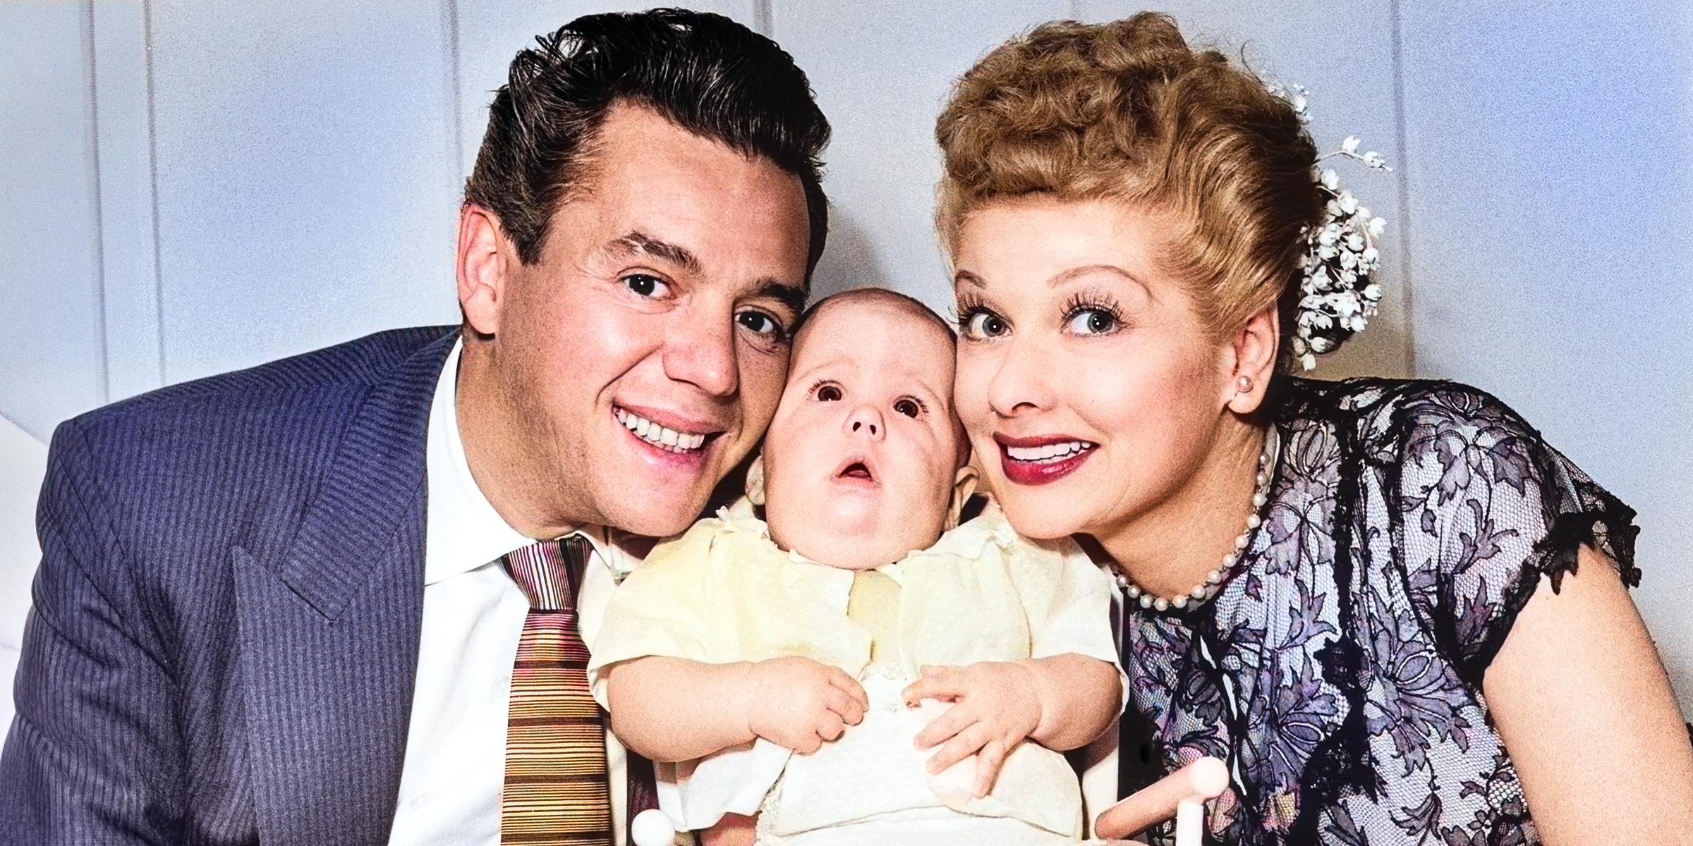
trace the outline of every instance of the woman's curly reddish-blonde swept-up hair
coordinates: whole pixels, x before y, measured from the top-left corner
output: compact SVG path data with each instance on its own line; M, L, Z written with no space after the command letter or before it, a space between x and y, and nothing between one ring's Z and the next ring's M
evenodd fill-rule
M935 137L948 249L994 201L1116 200L1177 225L1161 264L1214 338L1273 303L1292 327L1304 232L1322 217L1317 149L1292 105L1190 49L1168 15L1058 20L999 46L958 80Z

